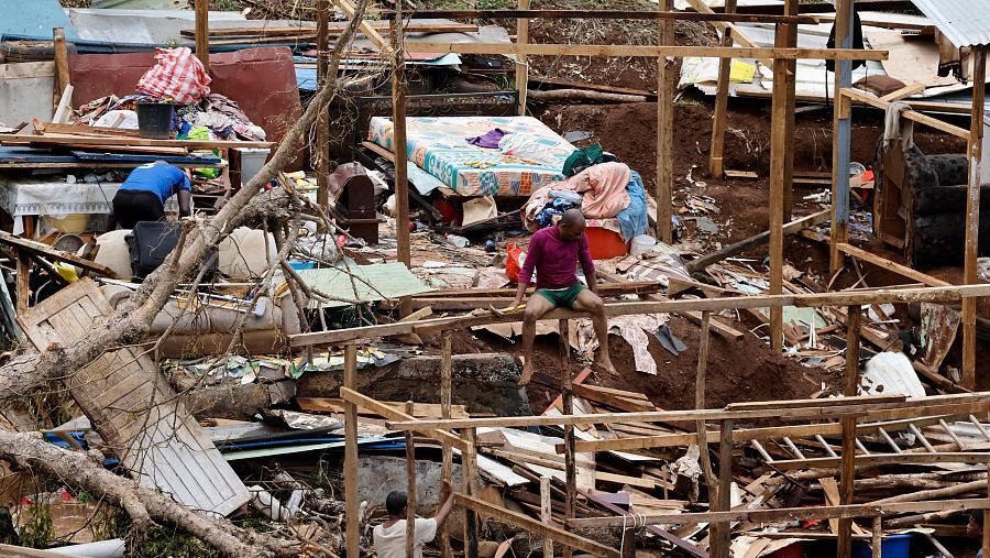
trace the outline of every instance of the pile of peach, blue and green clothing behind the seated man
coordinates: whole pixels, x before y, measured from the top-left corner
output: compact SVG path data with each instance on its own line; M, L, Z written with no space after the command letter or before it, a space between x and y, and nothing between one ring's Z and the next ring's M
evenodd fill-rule
M530 231L550 227L564 211L578 208L588 219L616 219L626 242L646 232L646 189L639 173L593 145L568 158L564 175L570 177L534 192L524 206L522 222Z

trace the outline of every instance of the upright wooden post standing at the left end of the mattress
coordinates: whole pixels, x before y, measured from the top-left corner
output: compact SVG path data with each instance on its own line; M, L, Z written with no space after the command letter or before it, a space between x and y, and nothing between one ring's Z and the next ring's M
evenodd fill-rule
M395 238L398 243L396 255L398 261L410 265L413 254L409 245L409 180L406 171L408 153L406 151L406 50L405 30L403 26L403 3L395 4L395 20L392 22L392 46L395 51L392 67L392 123L393 151L395 152ZM413 313L413 299L403 297L399 302L399 315Z

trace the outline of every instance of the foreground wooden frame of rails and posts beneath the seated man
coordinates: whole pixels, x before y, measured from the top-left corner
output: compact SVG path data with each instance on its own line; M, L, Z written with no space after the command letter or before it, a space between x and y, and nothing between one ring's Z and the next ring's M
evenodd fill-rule
M352 328L344 330L323 331L318 333L304 333L293 336L293 347L312 347L317 344L340 344L345 346L345 370L343 386L340 390L340 396L346 404L345 413L345 464L344 464L344 497L346 501L346 510L349 517L356 517L358 514L358 408L363 407L376 414L381 414L386 418L388 428L400 431L417 431L422 436L439 441L443 447L442 472L444 478L449 478L452 467L452 452L454 449L461 453L461 462L463 470L464 485L462 492L457 495L457 502L466 510L465 537L468 545L466 556L477 556L476 554L476 527L477 522L475 514L484 514L495 517L499 521L510 523L519 528L539 534L552 541L564 545L565 548L576 548L579 550L593 554L595 556L615 557L620 555L617 550L607 548L591 539L586 539L569 533L569 528L573 527L623 527L623 518L592 518L576 519L573 514L573 504L576 500L576 453L579 451L605 451L617 449L620 445L625 449L631 446L627 440L618 440L614 444L608 441L601 442L576 442L573 436L573 428L576 425L585 424L620 424L620 423L660 423L660 422L696 422L698 433L696 435L674 435L678 437L675 444L690 444L703 439L707 434L705 422L718 422L718 445L719 445L719 474L717 477L717 490L715 494L724 496L729 492L729 483L732 482L732 449L733 441L744 436L750 437L750 430L738 431L733 428L734 420L758 420L765 418L783 419L783 420L820 420L822 418L832 418L839 422L843 437L843 453L837 459L840 466L840 486L842 502L839 505L814 507L814 508L784 508L773 511L751 511L751 512L732 512L729 511L729 502L726 497L716 497L711 503L712 508L703 514L680 514L680 515L657 515L648 516L647 524L651 525L651 532L658 534L670 544L680 547L681 550L689 555L703 557L710 556L707 552L698 549L691 543L682 540L673 535L656 527L656 524L675 524L675 523L694 523L711 522L714 530L711 534L711 556L727 557L729 548L730 529L729 522L739 518L749 518L752 521L773 521L781 518L838 518L840 519L840 529L838 534L839 552L838 556L849 556L851 551L851 519L854 517L880 517L884 513L891 512L927 512L938 510L975 510L990 507L990 499L988 500L964 500L950 502L933 502L921 501L897 504L859 504L853 505L854 496L854 479L857 464L876 464L877 459L870 456L857 456L855 450L855 438L857 426L861 423L877 420L892 420L917 416L930 415L969 415L975 413L986 413L990 411L990 392L968 393L963 395L941 395L932 397L919 397L908 400L903 396L856 396L855 390L859 384L859 316L861 305L865 303L911 303L911 302L928 302L928 303L959 303L975 297L987 296L990 294L990 285L969 285L969 286L942 286L942 287L923 287L923 288L893 288L893 289L871 289L840 293L821 293L811 295L766 295L766 296L744 296L736 298L708 298L708 299L683 299L683 300L656 300L641 303L617 303L606 306L608 315L641 314L653 311L671 311L676 308L680 311L700 310L705 313L703 320L707 319L708 313L727 308L747 308L747 307L782 307L784 305L794 305L799 307L823 307L823 306L845 306L847 309L847 358L846 358L846 393L847 396L839 400L801 400L801 401L781 401L781 402L763 402L751 404L734 404L722 409L705 409L703 401L698 400L698 409L696 411L660 411L660 412L637 412L637 413L608 413L608 414L588 414L574 415L573 404L569 401L572 398L573 389L571 379L566 372L560 379L562 397L564 402L564 413L560 416L521 416L521 417L493 417L493 418L450 418L451 405L451 332L458 329L465 329L480 324L494 324L506 321L518 321L520 315L495 315L477 318L438 318L418 321L407 321L399 324L388 324L382 326L369 326L361 328ZM559 319L560 330L566 331L568 319L580 316L579 313L557 310L544 319ZM707 331L707 329L703 329ZM441 357L440 357L440 401L441 401L441 418L439 419L416 419L408 411L405 413L391 407L371 397L362 395L356 391L358 363L356 348L358 343L366 342L369 339L381 338L385 336L399 335L406 332L441 332ZM566 359L569 358L569 348L566 344L566 336L563 336L561 342L561 359L564 363L562 370L569 370ZM698 350L698 382L703 382L704 370L707 355L707 336L702 338L703 347ZM703 393L703 392L702 392ZM475 462L477 439L475 431L481 427L531 427L531 426L562 426L564 428L564 442L557 448L559 453L564 455L564 469L566 479L566 502L565 502L565 528L557 528L548 523L537 522L529 517L517 513L508 512L492 504L485 503L475 497L477 490L479 472ZM794 426L794 427L774 427L767 430L780 431L781 428L814 428L813 426ZM828 427L831 428L831 426ZM453 429L459 429L460 434L454 434ZM834 431L834 430L832 430ZM767 433L763 433L767 435ZM696 437L695 437L696 436ZM638 439L635 448L651 448L670 446L670 440L651 437L652 439L644 441ZM707 444L707 440L706 440ZM407 459L413 460L413 452L407 452ZM872 460L871 460L872 459ZM987 462L988 458L983 453L963 455L963 453L913 453L898 455L888 460L894 462L932 462L937 460L963 460L968 462ZM415 483L415 475L409 477L410 482ZM409 486L413 493L415 484ZM988 494L990 496L990 494ZM875 539L879 533L880 523L875 522ZM441 547L450 556L450 545L447 535L441 535ZM348 556L354 557L359 554L359 532L356 522L349 522L346 525L346 548ZM985 549L990 551L990 540L985 543Z

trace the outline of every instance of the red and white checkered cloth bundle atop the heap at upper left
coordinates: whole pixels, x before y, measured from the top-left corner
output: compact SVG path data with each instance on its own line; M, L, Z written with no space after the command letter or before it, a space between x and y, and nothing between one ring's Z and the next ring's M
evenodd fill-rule
M141 76L138 92L178 105L194 105L210 95L210 76L193 51L185 46L155 51L158 63Z

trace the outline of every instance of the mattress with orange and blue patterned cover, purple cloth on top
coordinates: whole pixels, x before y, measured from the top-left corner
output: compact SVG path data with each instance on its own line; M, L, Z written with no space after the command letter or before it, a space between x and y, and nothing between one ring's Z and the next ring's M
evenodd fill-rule
M498 149L466 141L496 128L509 132ZM392 119L372 118L369 140L394 151ZM407 118L406 147L410 162L461 196L528 196L562 180L575 150L532 117Z

